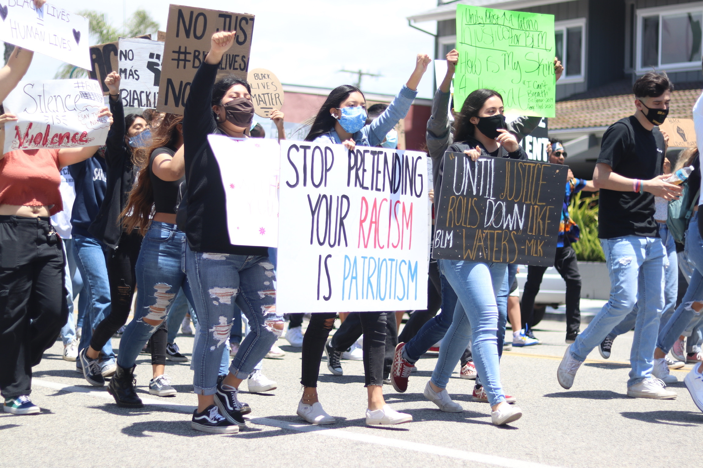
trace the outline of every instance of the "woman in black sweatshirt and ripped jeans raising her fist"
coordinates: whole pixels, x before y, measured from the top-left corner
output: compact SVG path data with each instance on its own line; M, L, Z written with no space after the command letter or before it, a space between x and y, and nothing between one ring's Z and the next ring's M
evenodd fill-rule
M188 193L186 274L193 292L200 334L193 349L193 389L198 408L191 427L217 434L245 425L238 388L283 333L276 312L276 274L266 247L230 243L219 165L207 142L216 133L245 138L254 116L251 88L235 76L217 83L222 55L236 32L212 35L207 58L195 73L183 113L183 149ZM218 382L222 353L230 335L234 305L244 312L251 332L242 341L229 373Z

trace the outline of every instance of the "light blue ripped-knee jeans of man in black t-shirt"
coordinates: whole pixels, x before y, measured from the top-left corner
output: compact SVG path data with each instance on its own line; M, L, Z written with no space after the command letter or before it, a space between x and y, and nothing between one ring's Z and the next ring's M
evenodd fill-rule
M651 377L659 318L664 309L666 250L659 237L624 236L600 239L610 273L610 300L571 345L572 357L585 361L635 304L638 314L630 352L628 387Z

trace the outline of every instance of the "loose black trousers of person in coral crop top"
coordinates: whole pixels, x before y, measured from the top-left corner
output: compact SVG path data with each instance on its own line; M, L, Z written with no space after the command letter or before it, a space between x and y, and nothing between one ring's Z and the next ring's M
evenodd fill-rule
M0 216L0 393L32 393L41 361L68 318L61 239L49 218Z

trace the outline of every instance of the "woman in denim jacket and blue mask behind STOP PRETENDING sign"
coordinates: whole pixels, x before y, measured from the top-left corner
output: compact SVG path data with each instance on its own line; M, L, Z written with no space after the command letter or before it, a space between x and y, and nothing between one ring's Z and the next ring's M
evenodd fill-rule
M408 113L418 84L427 65L427 55L420 54L410 79L396 95L385 112L366 125L366 99L355 86L342 85L333 89L320 108L306 141L344 144L349 149L359 146L377 146L387 133ZM302 346L303 396L297 415L311 424L333 424L335 418L325 413L317 394L322 352L337 314L312 314ZM385 356L386 320L395 320L394 312L363 312L359 314L363 328L363 369L368 392L366 424L400 424L413 417L398 413L383 399L383 364Z

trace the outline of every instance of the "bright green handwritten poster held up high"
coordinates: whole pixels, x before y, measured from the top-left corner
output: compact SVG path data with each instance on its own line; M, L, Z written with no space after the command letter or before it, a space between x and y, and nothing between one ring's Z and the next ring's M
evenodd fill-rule
M456 50L454 109L489 88L503 95L506 112L555 116L554 15L458 5Z

